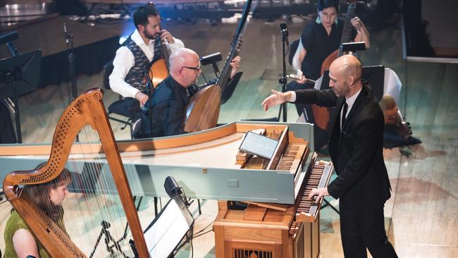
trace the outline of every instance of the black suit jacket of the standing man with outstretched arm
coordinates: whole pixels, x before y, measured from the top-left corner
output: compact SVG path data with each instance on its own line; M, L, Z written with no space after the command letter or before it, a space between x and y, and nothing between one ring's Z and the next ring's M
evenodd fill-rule
M340 205L364 208L384 204L390 198L390 180L383 161L383 112L364 85L342 132L340 109L345 97L336 97L333 90L297 90L296 102L335 107L330 118L330 157L338 177L328 185L329 194L340 198Z

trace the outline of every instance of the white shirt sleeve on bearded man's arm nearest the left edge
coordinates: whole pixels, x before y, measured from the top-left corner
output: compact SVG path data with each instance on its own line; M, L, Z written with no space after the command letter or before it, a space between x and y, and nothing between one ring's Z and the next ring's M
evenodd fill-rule
M130 68L135 65L135 56L128 47L120 47L116 51L113 60L113 73L109 77L110 87L113 92L123 97L135 98L139 90L125 82L125 75L129 73Z

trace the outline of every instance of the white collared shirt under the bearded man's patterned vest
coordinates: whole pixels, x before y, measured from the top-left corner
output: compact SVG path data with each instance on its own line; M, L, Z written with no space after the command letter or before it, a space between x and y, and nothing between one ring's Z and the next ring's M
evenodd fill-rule
M154 58L154 39L149 39L149 44L144 44L142 37L138 30L132 33L130 36L135 44L142 49L148 60L151 61ZM185 47L185 44L180 39L173 37L173 44L166 44L168 51L173 52L176 49ZM120 94L123 97L135 98L135 94L139 92L135 87L130 86L125 82L125 76L129 73L130 68L135 65L135 56L128 49L128 47L120 47L116 51L116 56L113 60L113 73L111 73L110 87L113 92Z

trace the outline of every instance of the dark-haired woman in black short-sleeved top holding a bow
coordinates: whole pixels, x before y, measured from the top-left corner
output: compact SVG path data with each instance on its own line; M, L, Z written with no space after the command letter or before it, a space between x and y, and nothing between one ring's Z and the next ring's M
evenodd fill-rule
M297 80L287 85L287 90L311 89L314 85L307 84L307 79L316 80L321 76L321 65L333 51L340 47L340 39L345 20L338 18L338 0L318 0L318 16L314 22L309 23L302 32L299 46L292 59L292 67L297 71ZM355 30L351 39L354 42L366 42L370 47L369 32L358 17L351 20ZM307 79L306 79L307 78ZM310 123L315 123L311 105L296 104L297 113L307 108ZM321 149L327 141L327 133L315 125L315 148Z

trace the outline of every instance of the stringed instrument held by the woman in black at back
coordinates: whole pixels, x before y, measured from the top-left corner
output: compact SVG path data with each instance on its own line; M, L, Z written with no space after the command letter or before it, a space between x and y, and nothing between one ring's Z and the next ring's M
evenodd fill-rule
M349 6L347 8L347 15L345 16L345 24L342 31L342 37L340 38L340 46L342 46L343 43L347 43L352 40L350 38L352 36L352 23L350 20L355 16L357 7L356 2L357 1L355 0L349 0ZM323 75L323 73L326 70L329 70L330 64L333 63L335 59L338 59L338 57L342 55L342 47L336 49L335 51L333 51L333 53L329 54L329 56L326 57L326 59L324 59L323 63L321 64L321 75ZM316 104L312 104L311 109L314 113L316 125L319 128L326 130L328 128L328 123L330 119L330 110L327 107L317 106Z

